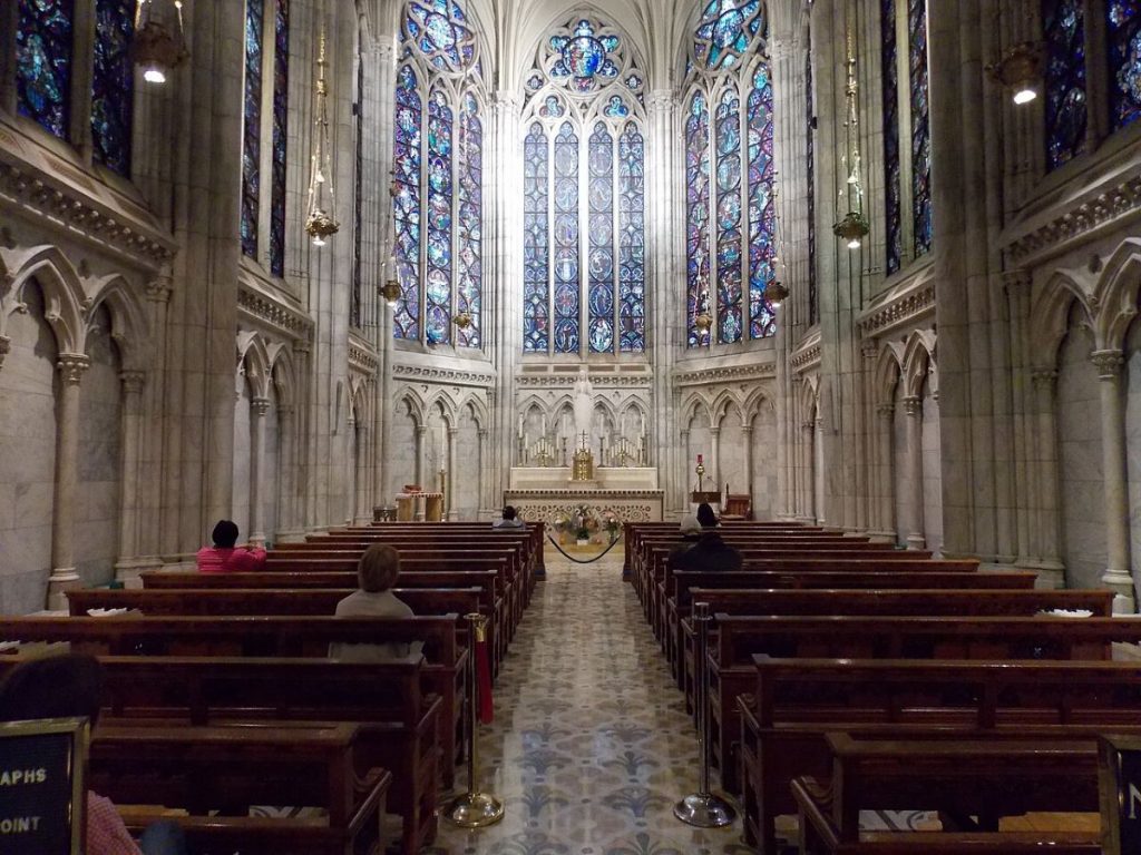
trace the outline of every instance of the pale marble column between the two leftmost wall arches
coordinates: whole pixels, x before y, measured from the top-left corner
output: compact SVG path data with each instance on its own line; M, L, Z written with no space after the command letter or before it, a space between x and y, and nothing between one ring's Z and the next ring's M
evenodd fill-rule
M79 489L79 392L91 360L83 353L60 353L56 426L56 487L51 508L51 576L48 608L66 609L64 592L80 584L75 572L75 494Z

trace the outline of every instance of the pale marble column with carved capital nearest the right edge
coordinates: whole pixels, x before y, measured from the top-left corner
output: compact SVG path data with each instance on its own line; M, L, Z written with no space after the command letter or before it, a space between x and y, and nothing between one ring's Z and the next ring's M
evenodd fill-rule
M1106 490L1106 555L1108 565L1101 577L1106 587L1117 592L1115 610L1135 610L1133 579L1130 577L1130 499L1125 477L1125 408L1122 377L1125 358L1119 350L1095 350L1090 355L1101 381L1101 450Z

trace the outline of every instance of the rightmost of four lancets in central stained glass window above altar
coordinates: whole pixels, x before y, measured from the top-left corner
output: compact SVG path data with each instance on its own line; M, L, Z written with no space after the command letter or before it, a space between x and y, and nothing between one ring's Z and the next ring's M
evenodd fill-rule
M646 142L633 122L618 140L618 331L623 353L646 349Z

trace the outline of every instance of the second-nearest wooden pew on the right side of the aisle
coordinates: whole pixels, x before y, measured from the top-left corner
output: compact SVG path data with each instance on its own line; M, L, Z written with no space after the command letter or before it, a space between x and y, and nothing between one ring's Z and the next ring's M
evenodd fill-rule
M824 734L906 739L958 730L997 736L1090 738L1135 727L1141 665L753 658L743 714L746 840L775 852L775 817L796 809L794 777L827 776ZM754 836L759 836L754 837Z

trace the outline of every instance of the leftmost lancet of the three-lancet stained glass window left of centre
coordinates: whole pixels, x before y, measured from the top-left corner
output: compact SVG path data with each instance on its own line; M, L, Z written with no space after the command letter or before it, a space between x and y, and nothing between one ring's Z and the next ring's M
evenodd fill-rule
M396 229L396 271L400 298L394 311L397 339L420 337L420 123L423 107L416 73L400 66L396 76L396 130L394 135L393 199Z

